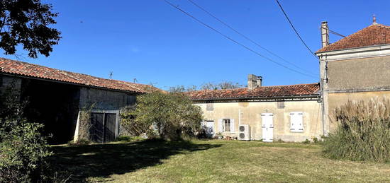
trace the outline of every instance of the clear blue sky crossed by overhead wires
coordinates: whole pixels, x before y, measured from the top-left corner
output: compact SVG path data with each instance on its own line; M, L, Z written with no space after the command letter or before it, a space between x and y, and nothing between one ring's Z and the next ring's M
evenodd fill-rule
M186 0L169 0L225 35L279 61L226 28ZM273 0L193 0L230 26L279 57L318 76L318 60L296 37ZM22 61L56 69L87 73L167 89L174 85L201 85L233 81L246 84L248 73L263 76L264 85L315 83L235 45L161 0L50 1L62 32L50 57L19 57ZM372 23L390 25L390 1L280 0L303 40L315 52L321 47L319 25L350 35ZM335 42L341 37L330 35ZM1 50L2 51L2 50ZM2 54L2 53L1 53ZM18 54L26 54L19 49ZM10 55L1 55L16 59ZM286 66L290 66L286 64ZM290 66L293 67L294 66Z

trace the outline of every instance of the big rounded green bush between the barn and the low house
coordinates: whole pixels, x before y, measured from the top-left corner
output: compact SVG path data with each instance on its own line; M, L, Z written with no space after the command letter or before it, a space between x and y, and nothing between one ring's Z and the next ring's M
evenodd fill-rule
M201 130L202 112L181 93L148 93L137 97L137 105L123 110L122 125L132 136L177 140Z

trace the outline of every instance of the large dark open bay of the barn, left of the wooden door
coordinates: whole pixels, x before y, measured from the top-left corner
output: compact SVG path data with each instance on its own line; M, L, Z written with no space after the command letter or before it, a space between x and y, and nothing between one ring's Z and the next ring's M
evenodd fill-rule
M51 136L50 144L71 141L79 111L79 87L35 79L24 79L22 85L28 121L45 125L43 134Z

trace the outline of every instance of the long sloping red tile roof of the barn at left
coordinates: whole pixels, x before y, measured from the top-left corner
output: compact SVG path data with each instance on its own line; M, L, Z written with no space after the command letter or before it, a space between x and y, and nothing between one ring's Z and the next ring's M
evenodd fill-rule
M98 78L83 73L73 73L52 69L46 66L29 64L23 61L0 58L0 73L11 73L19 76L29 76L33 78L45 78L66 83L76 83L80 85L107 88L111 90L123 90L135 93L147 93L150 90L160 90L151 85L130 83L113 79Z

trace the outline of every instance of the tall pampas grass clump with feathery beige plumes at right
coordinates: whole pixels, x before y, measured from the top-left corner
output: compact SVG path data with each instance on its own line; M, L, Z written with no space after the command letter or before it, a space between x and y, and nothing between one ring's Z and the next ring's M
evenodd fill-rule
M330 158L390 162L390 100L348 101L333 112L337 129L325 138Z

